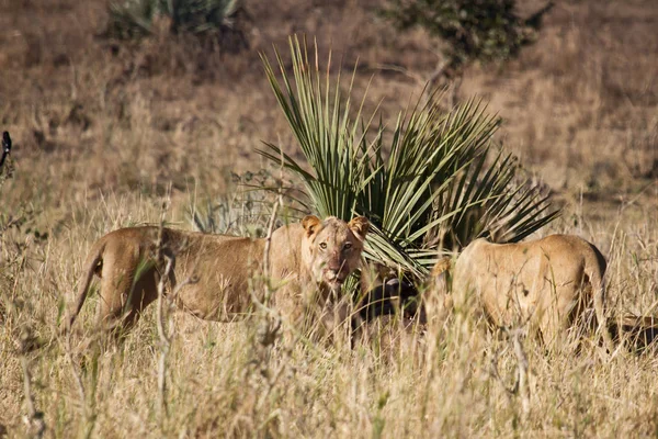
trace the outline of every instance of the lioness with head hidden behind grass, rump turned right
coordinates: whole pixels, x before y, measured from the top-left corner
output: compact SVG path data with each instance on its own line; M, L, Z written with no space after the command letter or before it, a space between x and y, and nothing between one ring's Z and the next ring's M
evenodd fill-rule
M468 293L474 292L490 323L527 323L551 346L593 303L599 330L612 347L605 330L605 266L599 249L577 236L551 235L503 245L480 238L458 256L452 273L453 293L443 304L464 306ZM444 289L446 268L442 260L432 272L434 293Z

